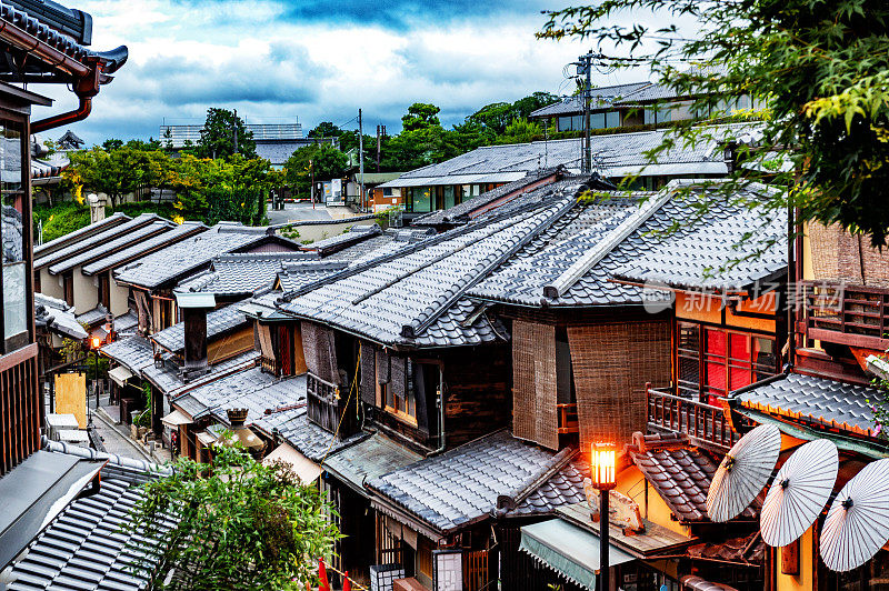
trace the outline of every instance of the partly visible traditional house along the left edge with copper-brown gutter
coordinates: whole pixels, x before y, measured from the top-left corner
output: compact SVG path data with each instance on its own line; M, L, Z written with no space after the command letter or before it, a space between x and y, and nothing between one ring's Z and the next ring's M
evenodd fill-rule
M137 482L150 478L149 467L124 468L94 450L41 441L30 183L31 134L84 119L100 87L126 62L127 48L89 49L92 20L84 12L54 2L27 6L0 4L0 572L10 589L121 580L139 588L147 581L129 571L131 555L122 552L129 537L108 532L126 522L121 514ZM22 82L30 89L13 86ZM79 107L31 122L32 107L52 104L33 92L41 82L70 84ZM47 304L54 300L39 303L44 329Z

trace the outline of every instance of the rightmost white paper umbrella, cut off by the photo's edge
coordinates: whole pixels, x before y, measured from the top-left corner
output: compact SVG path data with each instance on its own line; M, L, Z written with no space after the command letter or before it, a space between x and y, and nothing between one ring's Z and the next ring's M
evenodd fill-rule
M846 483L825 519L821 559L843 572L870 560L889 540L889 459L869 463Z

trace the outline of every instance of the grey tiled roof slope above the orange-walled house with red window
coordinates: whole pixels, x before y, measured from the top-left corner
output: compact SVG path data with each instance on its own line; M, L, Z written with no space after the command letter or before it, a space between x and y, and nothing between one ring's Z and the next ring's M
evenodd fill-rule
M767 191L766 187L751 186L742 197L753 202ZM699 194L695 192L690 198ZM785 209L751 209L728 203L721 196L701 201L708 207L700 220L680 227L662 244L617 269L615 276L680 289L741 291L786 271Z

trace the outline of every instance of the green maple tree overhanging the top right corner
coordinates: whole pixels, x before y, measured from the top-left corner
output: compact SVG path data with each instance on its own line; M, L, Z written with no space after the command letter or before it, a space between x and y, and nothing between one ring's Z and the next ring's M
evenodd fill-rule
M658 26L626 22L657 11ZM615 17L620 14L621 19ZM671 18L697 19L689 39ZM550 12L539 37L592 40L599 64L649 62L660 82L696 97L692 112L725 120L755 96L767 110L755 148L737 151L723 191L775 180L769 204L801 220L838 222L886 243L889 229L889 3L885 0L605 0ZM613 51L618 47L629 49ZM608 53L611 51L612 53ZM678 64L695 67L681 70ZM682 126L649 156L712 139ZM783 161L793 170L782 171ZM797 176L797 178L795 178Z

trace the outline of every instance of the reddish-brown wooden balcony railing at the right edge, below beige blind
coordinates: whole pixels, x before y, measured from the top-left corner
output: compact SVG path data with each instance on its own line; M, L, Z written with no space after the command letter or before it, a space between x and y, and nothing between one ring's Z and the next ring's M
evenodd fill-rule
M819 341L889 349L889 289L803 281L806 335Z

